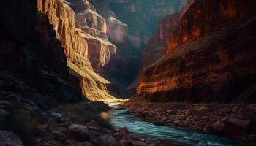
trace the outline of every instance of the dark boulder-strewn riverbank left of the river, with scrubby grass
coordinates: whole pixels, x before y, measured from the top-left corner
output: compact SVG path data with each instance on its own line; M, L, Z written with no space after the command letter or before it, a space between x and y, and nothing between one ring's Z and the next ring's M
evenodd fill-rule
M5 106L4 109L10 109L8 105L9 102L0 103L1 108ZM34 115L13 112L12 117L0 122L0 143L18 146L160 145L159 141L138 137L125 127L113 128L108 120L100 116L100 113L108 110L108 104L91 101L62 105L47 112L38 110ZM0 115L4 113L2 110L0 112Z

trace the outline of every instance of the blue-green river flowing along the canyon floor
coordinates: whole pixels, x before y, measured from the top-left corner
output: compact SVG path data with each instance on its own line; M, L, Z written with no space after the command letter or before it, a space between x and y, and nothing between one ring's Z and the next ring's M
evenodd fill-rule
M127 127L130 132L147 139L164 139L170 140L180 145L213 145L213 146L255 146L256 142L241 141L229 139L213 134L204 134L202 132L193 131L189 128L178 126L157 126L154 123L143 121L140 118L135 118L134 115L128 112L127 107L113 107L113 110L105 112L103 115L108 115L110 123L114 128Z

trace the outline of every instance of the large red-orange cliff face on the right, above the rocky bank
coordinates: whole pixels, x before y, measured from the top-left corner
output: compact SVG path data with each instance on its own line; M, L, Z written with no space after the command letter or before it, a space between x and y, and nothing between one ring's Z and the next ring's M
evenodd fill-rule
M148 101L255 101L255 6L252 0L195 1L165 55L140 74L137 96Z

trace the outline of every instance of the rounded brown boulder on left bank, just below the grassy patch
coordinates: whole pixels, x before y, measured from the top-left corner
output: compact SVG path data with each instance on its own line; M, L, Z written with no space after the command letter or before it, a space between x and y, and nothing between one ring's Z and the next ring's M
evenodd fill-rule
M89 130L86 126L80 124L72 124L67 129L67 133L80 142L85 142L90 138Z

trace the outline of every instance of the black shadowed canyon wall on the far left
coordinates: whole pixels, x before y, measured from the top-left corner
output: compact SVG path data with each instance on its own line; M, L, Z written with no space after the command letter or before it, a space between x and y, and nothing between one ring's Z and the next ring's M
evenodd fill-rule
M37 1L2 1L0 13L0 99L7 103L4 107L19 104L20 111L29 109L22 113L31 115L37 107L45 110L85 100L78 79L68 72L64 49L48 16L37 12Z

